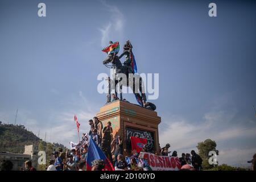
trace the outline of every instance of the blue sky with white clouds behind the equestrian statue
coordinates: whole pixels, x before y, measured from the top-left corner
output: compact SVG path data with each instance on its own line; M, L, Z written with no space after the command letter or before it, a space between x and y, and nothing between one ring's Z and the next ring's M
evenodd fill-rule
M47 16L39 18L38 3ZM208 16L210 2L217 17ZM159 73L160 144L188 152L216 140L220 163L256 152L253 1L0 1L0 120L47 140L77 140L105 104L101 49L133 44L139 73ZM136 102L133 94L124 96Z

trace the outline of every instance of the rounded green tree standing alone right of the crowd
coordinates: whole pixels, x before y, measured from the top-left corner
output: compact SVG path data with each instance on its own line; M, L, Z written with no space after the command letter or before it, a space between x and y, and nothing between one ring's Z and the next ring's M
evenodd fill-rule
M203 159L202 166L204 169L210 169L214 167L214 164L210 165L208 160L210 158L210 151L215 151L216 154L218 155L218 150L216 150L216 146L216 142L211 139L206 139L204 142L199 142L198 145L196 146L199 151L199 155Z

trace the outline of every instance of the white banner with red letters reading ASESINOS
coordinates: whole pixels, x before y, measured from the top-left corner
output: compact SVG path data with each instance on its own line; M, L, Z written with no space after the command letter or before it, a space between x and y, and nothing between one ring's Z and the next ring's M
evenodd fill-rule
M147 152L141 152L140 157L147 159L148 165L153 171L179 171L180 160L174 156L160 156Z

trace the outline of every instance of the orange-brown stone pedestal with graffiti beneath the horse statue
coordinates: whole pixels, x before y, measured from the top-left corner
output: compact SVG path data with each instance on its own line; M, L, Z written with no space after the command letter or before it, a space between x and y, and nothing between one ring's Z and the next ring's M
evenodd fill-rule
M137 136L146 138L148 144L155 150L159 150L158 125L161 118L158 117L156 111L117 100L102 106L97 117L104 126L109 121L112 123L113 137L119 135L123 139L123 149L131 151L130 137Z

